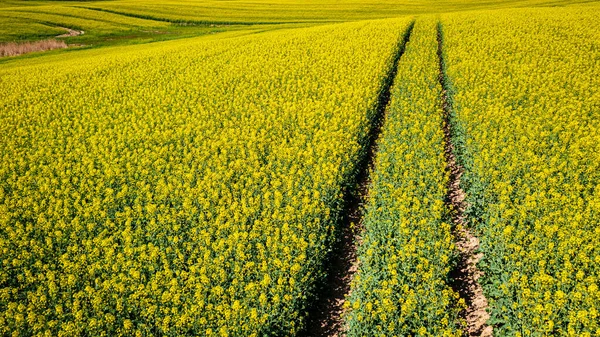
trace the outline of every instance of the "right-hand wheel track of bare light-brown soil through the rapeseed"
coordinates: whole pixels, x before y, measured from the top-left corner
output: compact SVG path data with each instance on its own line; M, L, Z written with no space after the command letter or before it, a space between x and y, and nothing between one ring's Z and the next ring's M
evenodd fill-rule
M461 313L466 321L466 326L464 327L465 335L490 337L493 335L493 328L487 325L487 320L490 318L487 312L488 302L483 294L483 288L478 282L483 273L477 268L477 262L483 257L483 254L478 253L479 239L466 227L467 222L464 212L467 208L467 203L465 201L465 192L462 190L460 184L463 167L456 160L454 144L452 142L453 130L450 123L451 106L448 99L442 57L442 32L441 25L438 25L439 81L443 88L444 150L446 167L450 172L446 205L451 211L456 248L459 253L458 264L451 275L453 279L452 287L460 294L467 305L467 308Z

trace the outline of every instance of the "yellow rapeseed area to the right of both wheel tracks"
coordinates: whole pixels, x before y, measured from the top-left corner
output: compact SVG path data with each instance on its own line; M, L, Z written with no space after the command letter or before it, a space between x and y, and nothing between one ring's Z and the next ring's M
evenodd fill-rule
M600 335L597 11L443 17L495 335Z

